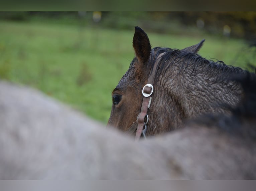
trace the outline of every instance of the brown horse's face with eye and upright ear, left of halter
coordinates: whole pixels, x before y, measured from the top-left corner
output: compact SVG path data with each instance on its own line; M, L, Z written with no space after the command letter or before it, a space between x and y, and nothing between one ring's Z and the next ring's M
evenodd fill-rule
M108 125L126 131L136 121L142 104L142 85L145 85L150 72L148 61L151 46L147 34L135 27L133 48L136 58L129 70L112 93L112 110Z

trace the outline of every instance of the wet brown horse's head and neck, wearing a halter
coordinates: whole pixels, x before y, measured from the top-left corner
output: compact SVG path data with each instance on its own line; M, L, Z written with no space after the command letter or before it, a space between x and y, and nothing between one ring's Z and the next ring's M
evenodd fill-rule
M133 48L136 57L112 93L113 105L108 125L127 131L134 124L142 110L142 89L148 84L153 70L151 104L144 112L147 112L149 119L146 135L179 128L184 119L200 114L226 111L225 107L216 103L238 103L241 87L227 80L227 77L246 72L198 55L203 43L204 40L182 50L151 49L147 34L135 27Z

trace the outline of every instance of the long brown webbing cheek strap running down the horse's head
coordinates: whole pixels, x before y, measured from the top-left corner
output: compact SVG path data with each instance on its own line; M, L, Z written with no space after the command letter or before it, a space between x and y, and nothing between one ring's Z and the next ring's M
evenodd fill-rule
M154 67L151 71L151 74L149 75L148 77L148 81L147 81L147 84L151 84L153 85L154 84L154 79L155 79L155 73L156 73L156 69L157 69L157 65L161 59L161 57L164 55L164 53L161 53L157 58L156 58L156 62L154 64ZM150 87L145 87L144 88L144 93L147 93L149 94L151 92L151 88ZM152 95L150 96L152 97ZM147 110L148 110L148 103L149 103L149 98L150 97L143 97L143 101L142 101L142 106L141 106L141 111L140 111L140 114L138 116L138 127L137 127L137 132L136 132L136 135L135 135L135 140L139 140L140 139L140 136L141 136L141 133L142 133L142 130L143 130L143 127L144 127L144 119L145 119L145 116L147 114Z

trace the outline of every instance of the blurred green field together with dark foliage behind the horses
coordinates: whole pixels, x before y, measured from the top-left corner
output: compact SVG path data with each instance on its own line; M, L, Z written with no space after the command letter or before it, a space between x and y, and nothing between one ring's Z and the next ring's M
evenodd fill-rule
M111 92L134 57L134 26L152 47L255 71L256 12L0 12L0 79L28 85L107 123Z

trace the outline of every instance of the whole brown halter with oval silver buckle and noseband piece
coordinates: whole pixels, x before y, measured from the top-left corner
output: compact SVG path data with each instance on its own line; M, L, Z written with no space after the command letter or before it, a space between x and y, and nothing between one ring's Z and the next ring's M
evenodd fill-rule
M148 77L147 84L142 89L143 101L142 101L142 105L141 105L141 111L138 114L137 120L135 122L133 122L132 125L130 126L130 128L126 131L126 133L133 134L135 132L135 130L137 129L136 135L135 135L136 141L140 139L143 127L145 126L145 128L146 128L146 124L148 122L147 111L150 108L150 104L151 104L152 93L154 90L153 84L154 84L156 69L157 69L158 63L160 62L160 59L163 55L164 55L164 53L161 53L156 58L154 67ZM147 122L145 123L144 120L145 120L146 116L147 116Z

